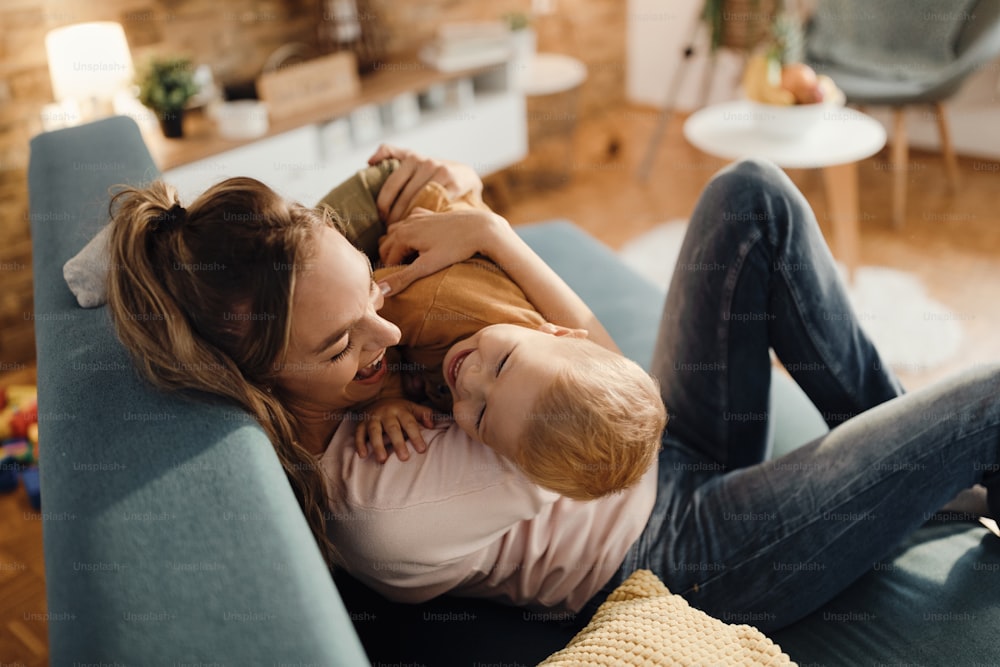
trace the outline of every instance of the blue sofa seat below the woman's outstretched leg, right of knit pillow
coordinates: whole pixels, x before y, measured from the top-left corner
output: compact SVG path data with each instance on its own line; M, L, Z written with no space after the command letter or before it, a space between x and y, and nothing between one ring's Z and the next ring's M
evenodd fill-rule
M1000 539L931 521L820 610L771 633L800 664L995 664Z

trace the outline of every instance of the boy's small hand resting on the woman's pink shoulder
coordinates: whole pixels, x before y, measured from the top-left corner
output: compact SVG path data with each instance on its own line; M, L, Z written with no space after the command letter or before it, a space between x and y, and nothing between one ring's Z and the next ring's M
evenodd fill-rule
M361 458L368 456L370 445L379 463L389 460L385 436L389 436L389 444L400 461L410 458L406 447L407 438L418 453L427 451L427 443L424 442L420 429L433 428L434 417L433 410L426 405L401 398L386 398L365 408L364 415L364 421L354 431L354 447Z

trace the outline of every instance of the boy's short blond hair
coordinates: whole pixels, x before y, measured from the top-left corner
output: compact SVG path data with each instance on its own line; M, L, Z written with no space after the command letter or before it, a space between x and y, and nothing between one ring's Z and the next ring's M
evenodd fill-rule
M638 364L589 340L564 340L572 361L528 415L514 462L540 486L592 500L639 481L660 450L667 411Z

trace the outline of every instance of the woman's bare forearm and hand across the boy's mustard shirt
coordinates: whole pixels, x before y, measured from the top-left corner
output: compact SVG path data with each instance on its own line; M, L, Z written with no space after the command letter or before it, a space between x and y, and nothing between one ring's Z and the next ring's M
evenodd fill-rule
M546 320L570 329L586 329L591 340L619 352L583 299L496 213L480 209L429 213L418 209L393 225L379 244L387 265L399 264L414 252L418 256L411 264L380 283L383 290L400 292L418 278L473 255L485 255L517 283Z

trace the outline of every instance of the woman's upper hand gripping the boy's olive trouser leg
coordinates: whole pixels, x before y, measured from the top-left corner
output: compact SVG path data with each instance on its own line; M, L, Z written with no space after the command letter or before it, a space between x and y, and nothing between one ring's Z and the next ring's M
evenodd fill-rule
M432 160L405 148L382 144L368 158L368 164L389 158L399 160L399 168L385 180L375 202L379 214L389 226L402 219L417 193L432 181L444 186L451 199L470 192L482 192L483 182L472 167L447 160Z

